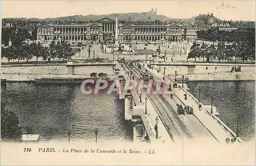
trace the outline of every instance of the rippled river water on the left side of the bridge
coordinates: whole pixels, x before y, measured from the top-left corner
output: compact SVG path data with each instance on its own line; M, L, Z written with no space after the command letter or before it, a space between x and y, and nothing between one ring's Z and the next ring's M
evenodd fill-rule
M2 102L16 113L20 126L29 127L40 140L71 139L132 141L133 128L124 122L124 100L117 94L82 94L80 85L7 83Z

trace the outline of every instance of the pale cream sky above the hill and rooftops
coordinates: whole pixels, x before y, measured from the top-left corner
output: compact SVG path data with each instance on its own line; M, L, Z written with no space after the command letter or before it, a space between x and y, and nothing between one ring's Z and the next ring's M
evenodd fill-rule
M255 1L2 1L1 14L2 18L51 18L146 12L152 8L170 18L191 18L212 12L222 20L255 21Z

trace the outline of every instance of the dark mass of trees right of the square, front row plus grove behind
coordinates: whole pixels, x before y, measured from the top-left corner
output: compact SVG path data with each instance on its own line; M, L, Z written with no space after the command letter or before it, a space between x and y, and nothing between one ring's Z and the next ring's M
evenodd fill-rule
M211 59L230 61L232 58L242 61L255 60L255 29L239 28L232 31L209 29L198 31L198 38L218 41L217 45L193 43L188 58L203 58L206 62Z

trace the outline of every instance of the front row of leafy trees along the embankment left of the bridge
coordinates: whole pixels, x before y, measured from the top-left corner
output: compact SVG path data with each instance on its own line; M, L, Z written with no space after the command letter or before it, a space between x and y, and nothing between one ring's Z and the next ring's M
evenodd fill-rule
M29 60L31 60L33 57L36 57L36 62L39 57L42 58L42 60L47 60L50 58L53 59L71 59L72 56L74 56L74 51L72 50L69 43L65 41L52 41L49 44L49 47L43 46L40 42L31 43L29 44L19 44L19 45L12 45L8 48L2 47L2 58L5 57L8 59L8 62L10 63L10 60L26 60L27 63Z

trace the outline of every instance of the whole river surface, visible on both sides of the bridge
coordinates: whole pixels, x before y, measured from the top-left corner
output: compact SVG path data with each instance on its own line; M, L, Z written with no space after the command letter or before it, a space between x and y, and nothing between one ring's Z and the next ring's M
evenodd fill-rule
M243 140L254 138L255 81L191 81L190 92L203 104L214 106L220 119ZM199 90L199 88L201 90ZM1 99L9 110L14 111L20 126L29 126L40 140L71 139L132 141L133 127L124 121L124 100L117 94L85 95L80 85L34 85L7 83L1 87ZM200 97L199 97L200 91Z

